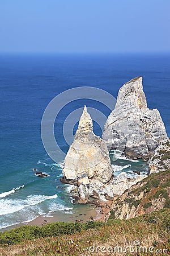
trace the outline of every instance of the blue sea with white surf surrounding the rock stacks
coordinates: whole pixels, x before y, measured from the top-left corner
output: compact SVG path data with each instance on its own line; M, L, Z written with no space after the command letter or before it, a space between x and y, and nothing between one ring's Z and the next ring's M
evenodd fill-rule
M64 90L78 86L95 86L117 97L118 89L136 76L143 76L148 107L159 109L170 136L170 55L1 54L0 229L57 210L63 212L64 221L64 213L71 214L77 207L71 203L70 186L59 181L62 165L49 158L41 141L41 118L49 102ZM100 102L87 99L65 106L55 129L65 152L69 145L62 135L63 121L84 104L107 116L110 113ZM94 131L101 136L96 123ZM117 173L147 171L141 161L118 159L113 164ZM33 168L49 176L39 178Z

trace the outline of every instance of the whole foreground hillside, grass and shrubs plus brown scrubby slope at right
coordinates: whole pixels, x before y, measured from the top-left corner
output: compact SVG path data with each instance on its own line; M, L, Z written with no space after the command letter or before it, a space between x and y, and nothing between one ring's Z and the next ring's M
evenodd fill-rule
M0 255L170 255L169 193L170 170L151 174L114 201L107 223L11 229L0 233Z

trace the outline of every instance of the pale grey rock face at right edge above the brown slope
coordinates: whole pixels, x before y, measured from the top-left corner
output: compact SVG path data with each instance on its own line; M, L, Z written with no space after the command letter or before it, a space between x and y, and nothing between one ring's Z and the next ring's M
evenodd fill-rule
M170 169L170 139L163 139L148 160L149 173Z

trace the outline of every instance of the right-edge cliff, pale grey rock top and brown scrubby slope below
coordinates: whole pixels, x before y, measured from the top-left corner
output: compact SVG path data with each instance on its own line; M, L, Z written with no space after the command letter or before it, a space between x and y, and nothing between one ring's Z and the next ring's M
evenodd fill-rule
M170 208L170 139L163 139L148 161L150 175L114 197L112 218L134 218Z

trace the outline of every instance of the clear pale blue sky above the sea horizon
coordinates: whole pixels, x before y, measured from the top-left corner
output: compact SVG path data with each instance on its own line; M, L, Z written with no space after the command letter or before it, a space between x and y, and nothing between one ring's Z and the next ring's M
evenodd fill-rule
M0 52L170 52L170 0L1 0Z

